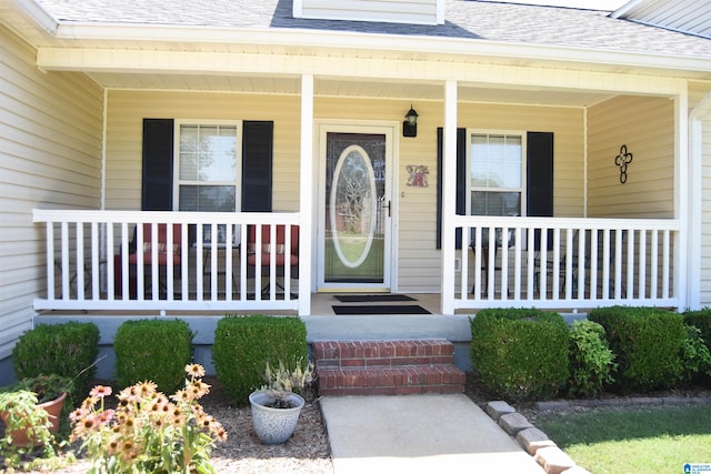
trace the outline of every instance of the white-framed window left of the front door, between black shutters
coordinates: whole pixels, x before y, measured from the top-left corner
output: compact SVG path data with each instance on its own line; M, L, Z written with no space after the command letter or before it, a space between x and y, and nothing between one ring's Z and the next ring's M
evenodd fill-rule
M176 199L179 211L240 209L238 124L176 121Z

